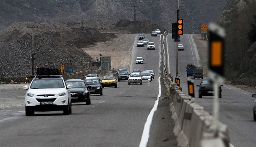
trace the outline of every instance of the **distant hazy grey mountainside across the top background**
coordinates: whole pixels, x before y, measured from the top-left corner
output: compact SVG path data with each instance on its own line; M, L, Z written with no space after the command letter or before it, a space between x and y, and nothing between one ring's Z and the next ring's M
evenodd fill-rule
M181 0L180 18L184 19L184 33L200 33L200 24L214 21L227 1ZM61 18L63 25L67 25L68 22L80 22L80 4L76 0L1 0L0 30L8 28L14 22L43 22L57 25L60 24ZM171 28L172 22L176 21L177 9L177 0L86 0L82 2L84 21L106 21L116 24L121 19L130 21L151 19L165 30ZM136 10L135 17L134 10Z

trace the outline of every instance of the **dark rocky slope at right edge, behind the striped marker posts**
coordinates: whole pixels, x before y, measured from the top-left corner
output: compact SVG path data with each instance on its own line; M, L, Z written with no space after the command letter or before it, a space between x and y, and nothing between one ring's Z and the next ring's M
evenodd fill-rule
M256 87L256 0L228 2L217 18L226 28L225 75Z

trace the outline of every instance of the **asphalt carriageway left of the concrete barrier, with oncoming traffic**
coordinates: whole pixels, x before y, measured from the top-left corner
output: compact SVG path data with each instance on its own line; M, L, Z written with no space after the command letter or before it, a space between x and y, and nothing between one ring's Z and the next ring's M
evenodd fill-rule
M154 70L155 79L142 85L120 81L117 88L104 88L103 96L92 95L91 105L73 103L71 115L57 111L25 116L23 84L0 88L1 147L143 147L148 138L148 147L176 146L171 114L166 113L168 101L159 96L163 91L159 88L159 35L146 34L146 37L155 42L156 49L147 50L146 45L137 47L135 38L130 70ZM137 56L144 57L144 64L135 64ZM156 111L158 103L162 107ZM152 116L154 112L157 115Z

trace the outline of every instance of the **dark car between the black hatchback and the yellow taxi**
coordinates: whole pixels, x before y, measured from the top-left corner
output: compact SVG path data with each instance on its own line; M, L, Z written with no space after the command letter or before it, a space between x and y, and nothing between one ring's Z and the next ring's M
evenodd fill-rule
M88 79L88 80L85 80L85 82L88 86L91 86L89 89L91 94L103 95L103 93L102 93L103 88L102 88L102 85L101 85L101 82L99 79L97 79L97 78Z

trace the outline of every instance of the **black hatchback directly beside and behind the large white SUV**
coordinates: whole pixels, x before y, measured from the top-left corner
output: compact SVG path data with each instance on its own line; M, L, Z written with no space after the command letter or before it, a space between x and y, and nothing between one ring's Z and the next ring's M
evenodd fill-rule
M85 102L86 105L91 104L91 94L88 86L82 79L69 79L65 81L66 84L73 85L70 88L71 93L71 103L81 103Z

